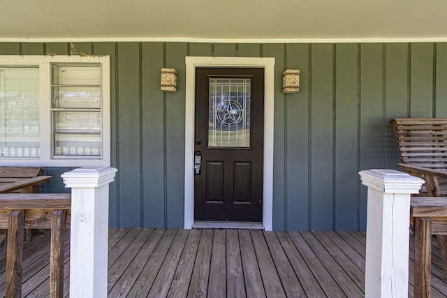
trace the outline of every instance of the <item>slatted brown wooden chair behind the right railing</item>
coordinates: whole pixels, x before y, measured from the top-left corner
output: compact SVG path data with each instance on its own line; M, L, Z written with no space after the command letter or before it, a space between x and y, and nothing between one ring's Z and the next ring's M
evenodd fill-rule
M420 195L447 195L447 119L400 118L391 119L390 124L402 161L397 166L425 181ZM432 234L437 235L447 277L447 217L437 217L437 222L441 224L432 229Z

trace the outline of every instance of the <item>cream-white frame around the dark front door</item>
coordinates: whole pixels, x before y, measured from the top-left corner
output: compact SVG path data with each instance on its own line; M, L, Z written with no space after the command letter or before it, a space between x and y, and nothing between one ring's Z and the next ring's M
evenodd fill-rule
M272 230L273 219L273 115L274 58L186 57L185 158L184 158L184 228L194 223L194 105L196 102L196 68L244 67L264 68L264 148L263 148L263 227Z

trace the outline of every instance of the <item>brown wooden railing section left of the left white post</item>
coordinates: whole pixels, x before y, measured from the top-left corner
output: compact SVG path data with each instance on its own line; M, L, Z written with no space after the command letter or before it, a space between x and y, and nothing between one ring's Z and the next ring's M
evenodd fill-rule
M64 297L64 237L71 194L0 194L0 229L8 229L6 297L22 297L24 229L51 229L50 297Z

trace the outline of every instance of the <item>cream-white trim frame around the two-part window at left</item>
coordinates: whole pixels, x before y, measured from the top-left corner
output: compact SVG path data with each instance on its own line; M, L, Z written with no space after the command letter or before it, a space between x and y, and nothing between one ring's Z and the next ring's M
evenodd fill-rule
M52 158L51 156L51 63L100 63L102 68L102 102L101 102L101 159ZM110 57L109 56L0 56L0 65L39 66L40 84L40 140L41 157L38 158L0 158L1 165L33 165L54 167L82 167L86 165L110 166Z

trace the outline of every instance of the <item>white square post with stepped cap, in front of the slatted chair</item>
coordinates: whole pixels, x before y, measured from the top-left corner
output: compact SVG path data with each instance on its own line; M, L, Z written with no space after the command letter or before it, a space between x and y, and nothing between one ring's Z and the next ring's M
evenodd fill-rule
M410 195L423 180L395 170L361 171L368 186L365 297L408 297Z

